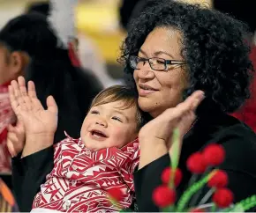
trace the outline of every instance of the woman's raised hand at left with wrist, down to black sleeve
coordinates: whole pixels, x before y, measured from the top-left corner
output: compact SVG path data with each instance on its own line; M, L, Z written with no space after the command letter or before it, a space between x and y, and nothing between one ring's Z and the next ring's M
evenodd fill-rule
M26 90L24 77L19 77L18 82L12 81L9 92L11 107L25 128L26 143L22 157L51 146L57 126L57 106L53 97L48 97L48 109L45 110L37 99L33 82L28 82Z

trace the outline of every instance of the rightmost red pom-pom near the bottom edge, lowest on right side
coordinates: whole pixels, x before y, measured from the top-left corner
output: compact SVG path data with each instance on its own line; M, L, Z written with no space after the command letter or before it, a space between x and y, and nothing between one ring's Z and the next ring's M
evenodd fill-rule
M215 191L213 201L220 208L229 207L233 202L233 193L228 188L220 188Z

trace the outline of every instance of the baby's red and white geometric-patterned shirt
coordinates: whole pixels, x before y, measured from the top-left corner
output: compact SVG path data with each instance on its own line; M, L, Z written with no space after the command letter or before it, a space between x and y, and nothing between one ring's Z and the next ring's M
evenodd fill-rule
M134 199L132 173L139 164L138 140L121 149L115 147L91 151L81 139L68 136L57 143L54 169L34 198L33 209L63 212L118 211L106 193L111 187L124 192L122 209Z

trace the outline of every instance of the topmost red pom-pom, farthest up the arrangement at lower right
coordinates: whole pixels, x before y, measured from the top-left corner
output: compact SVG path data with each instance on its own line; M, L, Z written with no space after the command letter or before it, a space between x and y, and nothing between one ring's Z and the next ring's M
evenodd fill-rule
M220 165L224 161L225 151L222 145L210 144L203 151L203 156L207 165Z

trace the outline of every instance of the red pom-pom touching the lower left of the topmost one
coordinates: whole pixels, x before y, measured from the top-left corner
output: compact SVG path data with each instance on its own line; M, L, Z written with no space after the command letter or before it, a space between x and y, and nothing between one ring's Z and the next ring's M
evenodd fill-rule
M206 171L207 165L204 158L200 152L193 153L186 162L187 168L192 173L204 173Z

